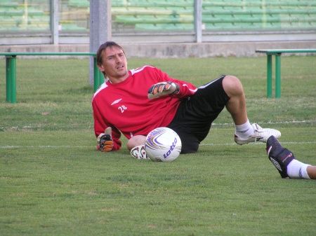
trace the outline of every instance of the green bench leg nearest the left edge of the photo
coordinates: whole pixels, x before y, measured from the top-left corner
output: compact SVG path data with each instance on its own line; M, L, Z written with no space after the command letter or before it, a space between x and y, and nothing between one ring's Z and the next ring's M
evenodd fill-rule
M16 103L16 57L6 57L6 102Z

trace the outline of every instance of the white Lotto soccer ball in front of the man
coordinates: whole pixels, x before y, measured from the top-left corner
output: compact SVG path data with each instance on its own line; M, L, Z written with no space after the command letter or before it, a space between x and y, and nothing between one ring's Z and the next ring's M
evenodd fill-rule
M158 127L147 134L145 151L147 157L155 162L172 162L181 151L181 139L176 132L167 127Z

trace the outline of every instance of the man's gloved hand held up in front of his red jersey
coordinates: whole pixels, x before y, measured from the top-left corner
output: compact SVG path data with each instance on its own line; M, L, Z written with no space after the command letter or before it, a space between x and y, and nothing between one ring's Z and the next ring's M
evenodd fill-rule
M173 82L160 82L152 85L148 90L148 98L153 99L165 95L173 95L180 90L179 85Z

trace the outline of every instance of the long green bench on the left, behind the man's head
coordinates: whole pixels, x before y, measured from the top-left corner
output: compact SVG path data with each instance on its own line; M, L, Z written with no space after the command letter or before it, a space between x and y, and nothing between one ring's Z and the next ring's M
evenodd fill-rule
M103 74L99 71L96 53L0 53L6 57L6 101L16 102L16 57L17 56L92 56L93 89L96 91L103 83Z

